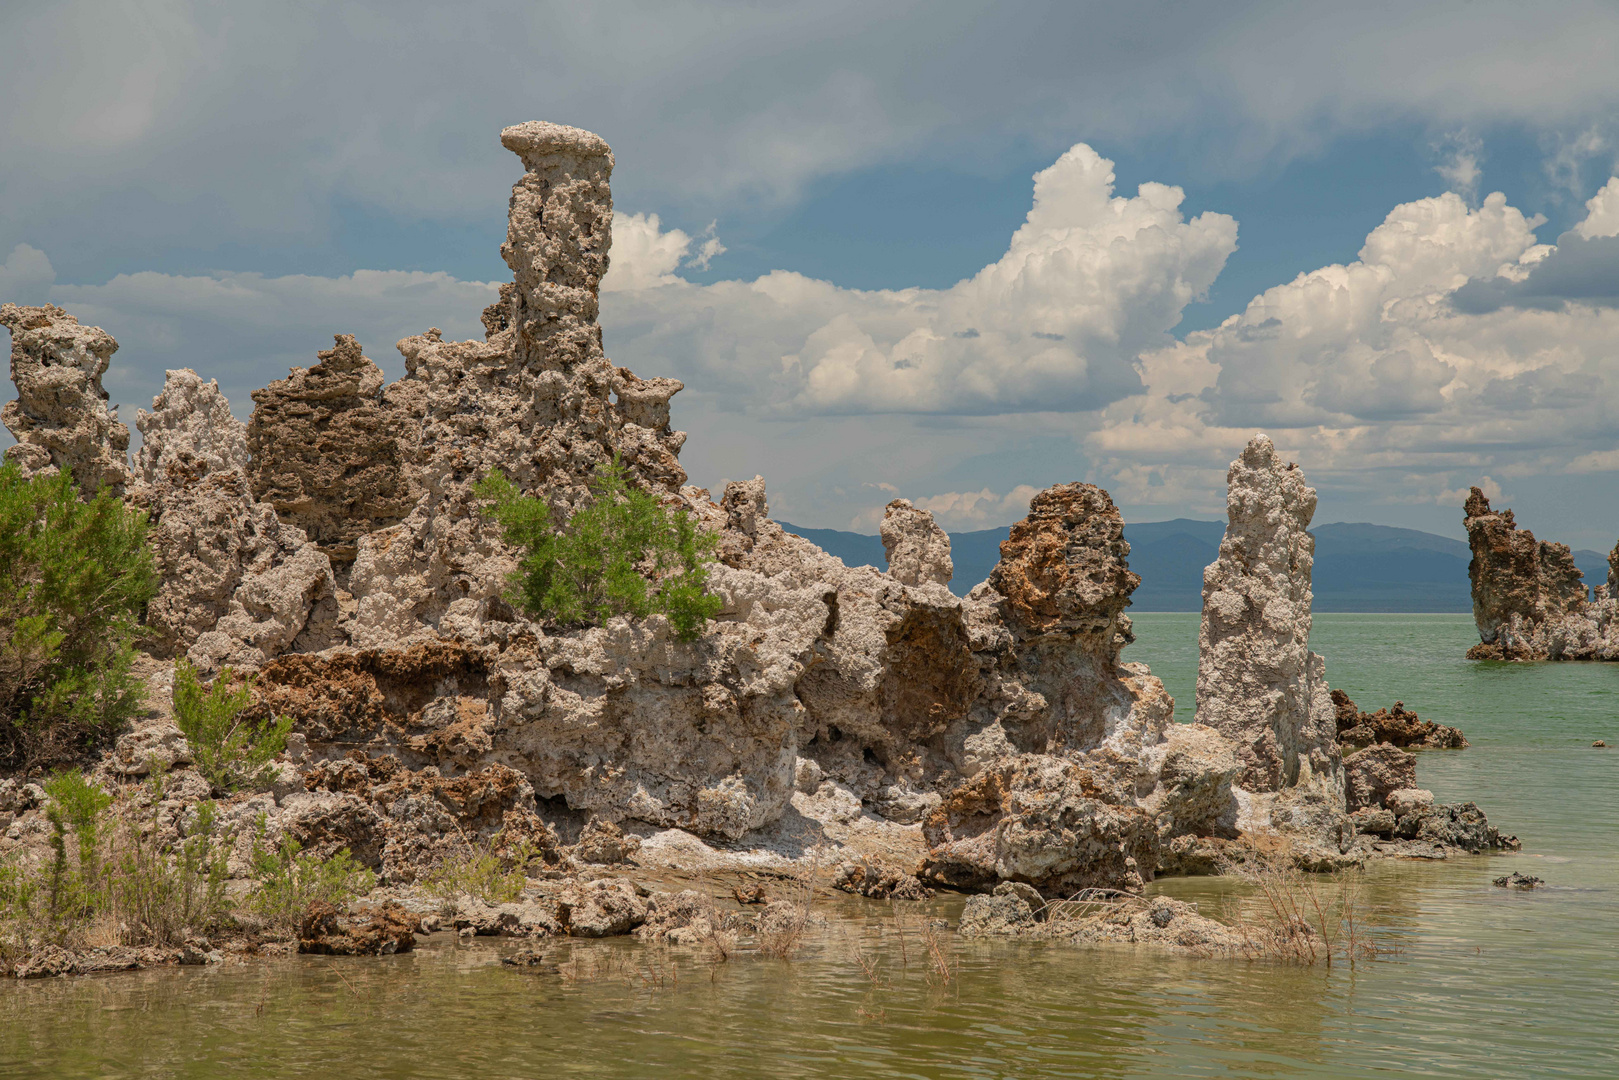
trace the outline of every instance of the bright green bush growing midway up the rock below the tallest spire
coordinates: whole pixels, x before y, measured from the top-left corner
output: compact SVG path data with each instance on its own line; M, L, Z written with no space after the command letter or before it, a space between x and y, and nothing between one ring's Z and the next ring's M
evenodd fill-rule
M720 610L708 591L719 539L631 487L617 458L596 470L593 502L560 528L544 500L521 494L500 471L476 491L492 504L507 542L526 552L512 594L533 615L601 625L614 615L661 614L690 641Z

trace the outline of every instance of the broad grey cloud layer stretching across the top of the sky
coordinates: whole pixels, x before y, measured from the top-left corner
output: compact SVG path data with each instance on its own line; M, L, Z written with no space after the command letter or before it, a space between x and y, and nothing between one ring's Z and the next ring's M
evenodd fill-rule
M1389 125L1609 117L1619 10L1522 13L1433 0L1394 32L1329 0L10 3L0 40L26 47L0 65L0 251L306 256L356 206L484 222L512 176L494 134L529 118L601 131L625 204L706 220L874 165L992 173L1081 134L1172 139L1230 176Z

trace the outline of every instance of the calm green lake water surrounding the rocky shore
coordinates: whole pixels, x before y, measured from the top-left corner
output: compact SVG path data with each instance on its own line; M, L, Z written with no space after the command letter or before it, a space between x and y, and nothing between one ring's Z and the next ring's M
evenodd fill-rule
M1135 627L1125 659L1190 719L1198 617ZM607 975L567 980L437 934L387 959L6 983L0 1077L1619 1077L1619 664L1477 664L1475 640L1467 615L1316 615L1363 709L1399 698L1467 732L1420 782L1523 840L1370 871L1399 950L1355 970L954 942L937 984L886 905L827 899L793 960L576 942L559 959ZM1489 886L1511 870L1549 887ZM1240 891L1154 887L1211 913Z

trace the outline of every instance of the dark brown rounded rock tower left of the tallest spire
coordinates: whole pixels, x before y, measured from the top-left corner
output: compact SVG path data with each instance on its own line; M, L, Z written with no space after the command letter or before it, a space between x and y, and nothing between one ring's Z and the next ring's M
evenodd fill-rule
M338 334L319 361L253 392L248 476L254 499L346 563L361 536L416 505L400 461L408 418L384 400L382 369L353 335Z

